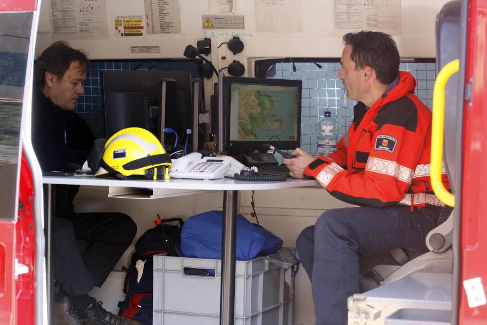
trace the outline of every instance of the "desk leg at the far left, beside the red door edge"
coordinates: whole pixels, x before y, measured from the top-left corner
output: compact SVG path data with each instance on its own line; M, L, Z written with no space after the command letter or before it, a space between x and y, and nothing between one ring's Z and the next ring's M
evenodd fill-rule
M54 190L56 185L44 185L44 232L46 238L47 319L54 324Z

